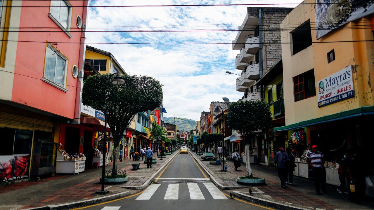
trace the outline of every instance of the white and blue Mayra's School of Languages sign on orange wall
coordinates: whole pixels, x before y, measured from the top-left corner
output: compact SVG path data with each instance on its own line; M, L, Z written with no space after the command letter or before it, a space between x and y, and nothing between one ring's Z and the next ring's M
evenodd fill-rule
M318 107L333 104L355 96L353 90L352 66L317 82Z

